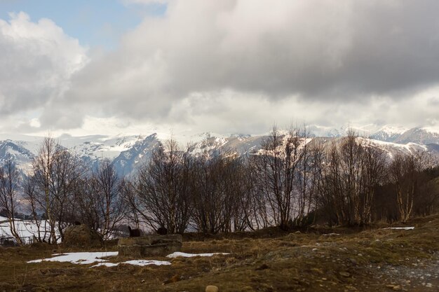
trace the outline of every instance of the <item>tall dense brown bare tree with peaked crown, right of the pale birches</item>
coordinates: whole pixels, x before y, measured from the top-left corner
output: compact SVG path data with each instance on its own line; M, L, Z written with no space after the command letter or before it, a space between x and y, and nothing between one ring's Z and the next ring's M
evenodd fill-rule
M386 153L349 130L327 152L320 186L320 207L328 221L363 225L372 221L372 204L383 183Z

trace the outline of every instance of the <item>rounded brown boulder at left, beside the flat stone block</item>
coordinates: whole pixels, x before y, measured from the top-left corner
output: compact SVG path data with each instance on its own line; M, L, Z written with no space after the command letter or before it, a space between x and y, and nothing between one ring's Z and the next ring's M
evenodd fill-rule
M80 247L101 247L103 244L102 236L87 225L72 225L64 232L65 246Z

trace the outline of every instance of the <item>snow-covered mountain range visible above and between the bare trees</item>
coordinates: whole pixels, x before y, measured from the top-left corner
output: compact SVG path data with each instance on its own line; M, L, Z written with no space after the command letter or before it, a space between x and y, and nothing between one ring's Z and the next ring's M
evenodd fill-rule
M352 127L339 129L328 127L309 127L309 136L320 139L323 143L341 139ZM381 127L371 131L370 127L353 128L360 136L365 137L379 148L383 148L390 155L396 151L428 151L439 158L439 131L428 127ZM225 149L233 149L238 153L245 154L257 151L266 135L250 136L247 134L220 135L203 133L190 137L189 151L197 155L207 151L215 153ZM42 137L25 135L0 134L0 164L9 157L13 157L23 173L29 172L32 166L32 158L37 155ZM187 139L179 139L177 141ZM117 172L121 176L132 174L138 165L149 160L151 153L165 139L158 134L147 136L124 136L109 137L105 135L93 135L84 137L72 137L64 134L57 138L58 143L78 155L83 161L96 165L99 160L107 158L112 160ZM182 145L184 146L184 145Z

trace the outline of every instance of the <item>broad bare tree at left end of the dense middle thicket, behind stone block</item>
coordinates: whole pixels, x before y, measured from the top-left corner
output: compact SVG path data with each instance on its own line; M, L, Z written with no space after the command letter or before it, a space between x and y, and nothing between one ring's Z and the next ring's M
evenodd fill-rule
M190 157L174 139L154 149L135 183L139 214L156 230L182 233L189 223Z

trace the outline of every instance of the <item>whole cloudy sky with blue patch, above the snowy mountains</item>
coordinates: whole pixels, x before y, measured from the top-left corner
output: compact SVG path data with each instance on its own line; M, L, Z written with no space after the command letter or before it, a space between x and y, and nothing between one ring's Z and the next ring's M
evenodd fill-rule
M435 0L0 0L0 133L439 129Z

